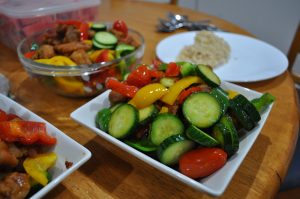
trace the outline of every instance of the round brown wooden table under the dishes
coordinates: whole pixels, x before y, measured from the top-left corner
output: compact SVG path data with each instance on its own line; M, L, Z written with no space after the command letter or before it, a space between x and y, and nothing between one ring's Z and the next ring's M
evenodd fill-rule
M143 63L155 58L155 46L170 34L157 33L159 17L167 11L187 14L192 20L211 19L214 24L240 34L243 29L196 11L174 5L103 0L99 20L123 19L146 39ZM46 198L210 198L185 186L172 177L148 166L80 126L70 113L90 99L73 99L56 95L31 79L14 51L0 44L0 72L11 81L15 100L48 120L67 135L87 147L92 158L74 172ZM270 92L276 102L260 136L234 175L222 198L272 198L288 169L298 136L298 106L289 72L267 81L243 83L259 92Z

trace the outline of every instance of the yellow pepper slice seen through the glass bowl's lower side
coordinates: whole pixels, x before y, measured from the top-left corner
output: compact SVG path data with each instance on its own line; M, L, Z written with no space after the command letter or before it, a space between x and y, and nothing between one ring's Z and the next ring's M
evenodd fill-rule
M84 93L84 84L75 77L54 77L56 84L67 93Z

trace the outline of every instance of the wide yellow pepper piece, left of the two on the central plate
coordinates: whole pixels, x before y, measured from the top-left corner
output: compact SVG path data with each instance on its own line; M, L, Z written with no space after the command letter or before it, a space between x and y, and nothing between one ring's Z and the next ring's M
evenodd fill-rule
M137 107L138 109L145 108L153 104L166 93L168 93L168 89L162 84L148 84L139 89L135 96L128 103Z

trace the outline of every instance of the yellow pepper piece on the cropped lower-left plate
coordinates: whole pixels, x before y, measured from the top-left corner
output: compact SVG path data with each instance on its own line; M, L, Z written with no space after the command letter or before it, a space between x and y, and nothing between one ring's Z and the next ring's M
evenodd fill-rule
M54 166L57 155L53 152L28 157L23 162L23 167L30 177L43 186L48 184L47 170Z

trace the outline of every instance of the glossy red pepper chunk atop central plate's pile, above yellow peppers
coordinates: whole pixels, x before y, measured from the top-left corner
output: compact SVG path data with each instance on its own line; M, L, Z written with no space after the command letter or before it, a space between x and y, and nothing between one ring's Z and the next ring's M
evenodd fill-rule
M140 65L136 70L132 71L127 77L129 85L137 86L139 88L151 82L150 70L145 65Z

